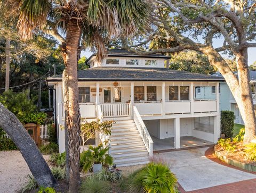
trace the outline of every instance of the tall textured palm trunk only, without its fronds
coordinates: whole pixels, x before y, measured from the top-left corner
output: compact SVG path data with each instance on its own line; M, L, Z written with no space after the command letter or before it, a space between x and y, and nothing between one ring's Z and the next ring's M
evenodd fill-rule
M69 192L77 192L80 182L79 174L79 141L80 141L80 112L78 104L78 82L77 82L77 49L81 39L81 28L76 19L70 19L67 23L66 37L66 68L68 86L68 110L67 129L69 146ZM64 102L65 103L65 102Z

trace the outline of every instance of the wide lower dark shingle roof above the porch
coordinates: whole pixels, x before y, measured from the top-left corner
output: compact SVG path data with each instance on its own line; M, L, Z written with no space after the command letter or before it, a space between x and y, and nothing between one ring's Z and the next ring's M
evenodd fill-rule
M77 72L78 81L224 81L221 77L166 68L97 67ZM62 75L47 78L61 81Z

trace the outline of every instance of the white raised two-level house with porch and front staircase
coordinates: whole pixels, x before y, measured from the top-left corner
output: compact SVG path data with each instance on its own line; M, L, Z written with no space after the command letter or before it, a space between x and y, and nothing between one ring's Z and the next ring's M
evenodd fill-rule
M110 49L102 62L78 71L79 104L86 120L115 120L110 153L118 166L147 163L154 152L210 145L220 137L218 89L197 99L195 88L219 87L222 77L164 68L169 56ZM62 76L47 82L56 90L60 152L65 151ZM95 143L99 142L99 138Z

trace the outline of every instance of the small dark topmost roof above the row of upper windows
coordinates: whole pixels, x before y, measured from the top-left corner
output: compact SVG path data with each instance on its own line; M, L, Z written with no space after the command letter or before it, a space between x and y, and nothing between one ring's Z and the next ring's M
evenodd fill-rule
M146 58L164 58L169 59L170 56L165 56L163 54L149 54L149 55L139 55L135 52L127 51L126 49L108 49L107 55L109 57L111 56L119 56L119 57L146 57ZM85 63L88 63L93 56L96 56L96 54L92 54Z

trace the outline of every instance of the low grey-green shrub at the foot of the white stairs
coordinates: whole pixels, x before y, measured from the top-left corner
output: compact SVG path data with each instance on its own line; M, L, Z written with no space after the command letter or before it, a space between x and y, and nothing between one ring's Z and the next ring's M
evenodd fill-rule
M109 170L103 169L101 172L95 175L99 180L106 180L110 182L117 182L122 179L121 171L118 171L118 170L109 171Z

